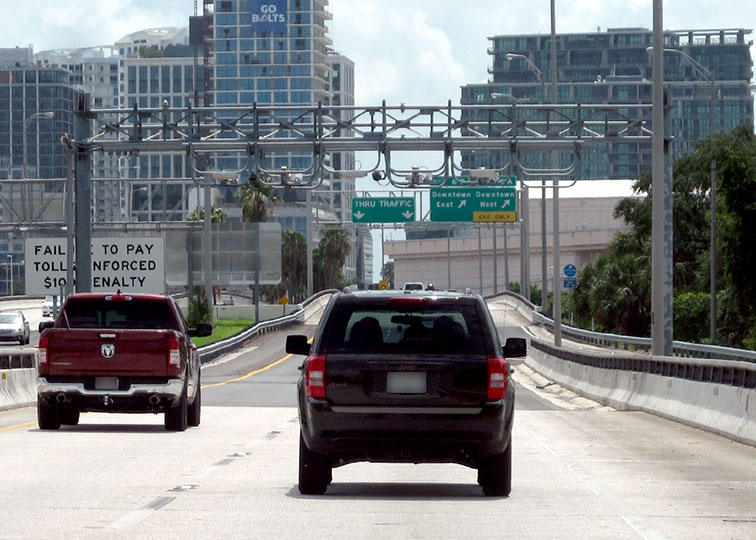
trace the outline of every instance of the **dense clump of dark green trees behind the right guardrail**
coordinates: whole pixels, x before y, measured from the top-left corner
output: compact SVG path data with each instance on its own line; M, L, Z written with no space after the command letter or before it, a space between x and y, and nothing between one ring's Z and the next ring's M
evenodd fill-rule
M716 159L718 334L732 346L756 344L756 136L751 126L704 141L674 164L673 286L674 336L703 340L708 335L710 286L710 174ZM635 184L638 195L624 199L615 216L630 231L618 235L607 250L583 268L575 292L578 321L591 317L604 331L650 334L650 175ZM634 331L629 331L630 328ZM751 334L753 340L751 340ZM697 337L693 337L697 336Z

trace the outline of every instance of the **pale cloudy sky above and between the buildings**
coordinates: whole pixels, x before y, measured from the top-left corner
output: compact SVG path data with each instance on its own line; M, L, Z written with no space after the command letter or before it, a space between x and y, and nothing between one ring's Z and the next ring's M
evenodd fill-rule
M332 47L355 62L357 105L382 100L389 105L459 103L460 86L488 80L488 38L550 33L550 3L330 0L329 35ZM556 0L555 5L558 33L653 28L652 0ZM112 44L136 30L186 26L193 7L193 0L0 0L6 21L0 47L31 44L39 52ZM663 21L670 30L754 30L756 0L666 0ZM756 34L747 39L756 41ZM751 56L756 59L756 46ZM626 186L612 186L604 194L628 194ZM603 193L597 187L592 184L588 190ZM582 196L583 191L564 190L565 196Z

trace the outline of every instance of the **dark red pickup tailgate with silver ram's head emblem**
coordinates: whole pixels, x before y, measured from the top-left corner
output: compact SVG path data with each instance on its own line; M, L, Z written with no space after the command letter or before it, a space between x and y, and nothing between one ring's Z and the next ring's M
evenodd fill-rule
M175 377L169 365L173 330L50 329L48 376Z

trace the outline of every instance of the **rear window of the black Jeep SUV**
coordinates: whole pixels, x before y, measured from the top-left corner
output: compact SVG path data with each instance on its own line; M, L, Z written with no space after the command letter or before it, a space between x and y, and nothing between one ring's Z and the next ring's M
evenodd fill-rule
M475 306L437 303L337 305L324 329L323 352L485 354Z

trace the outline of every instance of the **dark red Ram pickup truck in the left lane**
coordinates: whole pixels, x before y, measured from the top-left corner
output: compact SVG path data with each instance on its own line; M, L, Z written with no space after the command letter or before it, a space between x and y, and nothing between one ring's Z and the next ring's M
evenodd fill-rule
M37 419L41 429L75 425L84 411L165 413L165 428L200 423L200 362L169 296L71 295L57 320L40 326Z

